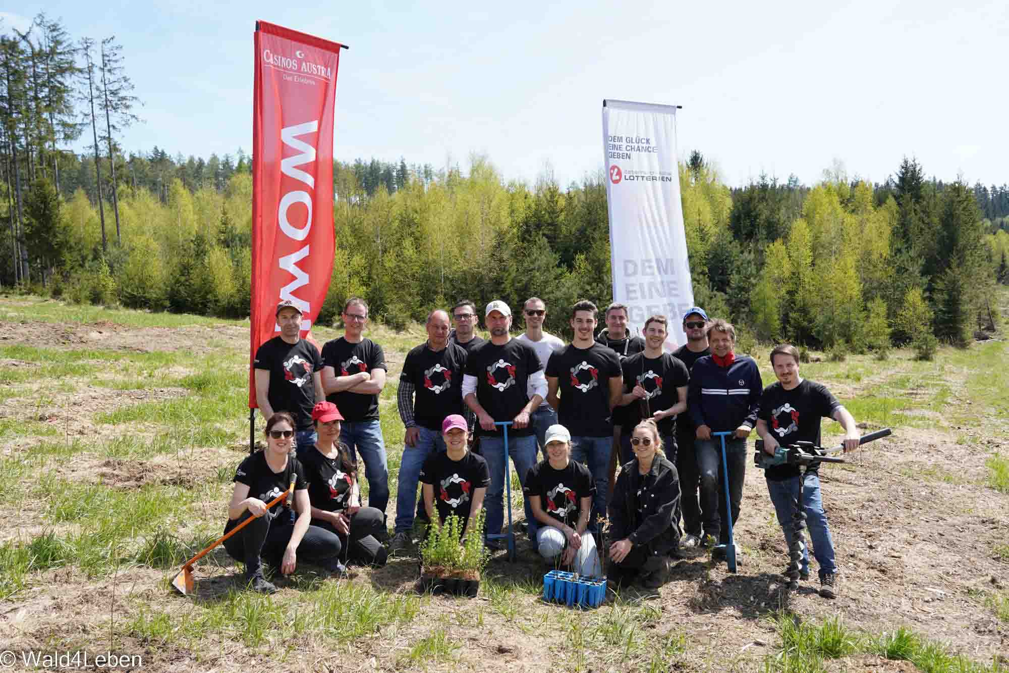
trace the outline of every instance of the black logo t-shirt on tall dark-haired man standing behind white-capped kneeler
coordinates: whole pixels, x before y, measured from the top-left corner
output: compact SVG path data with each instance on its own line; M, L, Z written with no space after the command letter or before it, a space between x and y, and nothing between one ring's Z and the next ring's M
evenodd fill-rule
M547 376L557 379L561 394L557 420L572 437L612 436L609 379L621 376L621 361L613 351L594 342L587 349L569 344L550 356Z

